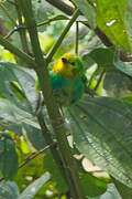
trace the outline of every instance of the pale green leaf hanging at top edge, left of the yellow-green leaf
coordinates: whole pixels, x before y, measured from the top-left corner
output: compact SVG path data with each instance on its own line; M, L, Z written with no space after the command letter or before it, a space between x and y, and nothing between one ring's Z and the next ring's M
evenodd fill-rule
M84 15L88 19L89 25L95 29L96 23L96 14L95 9L87 0L73 0L75 4L78 7L78 9L84 13Z

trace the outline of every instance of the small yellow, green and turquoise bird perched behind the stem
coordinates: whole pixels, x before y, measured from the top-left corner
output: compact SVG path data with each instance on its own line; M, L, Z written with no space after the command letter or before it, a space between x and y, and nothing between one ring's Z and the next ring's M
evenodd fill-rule
M76 55L66 53L54 64L50 77L61 105L68 106L80 100L84 93L84 74L82 63Z

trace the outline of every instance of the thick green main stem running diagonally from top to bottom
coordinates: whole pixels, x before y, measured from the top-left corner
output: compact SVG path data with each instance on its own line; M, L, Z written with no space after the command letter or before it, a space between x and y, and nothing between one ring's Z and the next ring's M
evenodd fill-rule
M25 18L25 23L29 28L29 34L31 39L33 53L35 56L35 63L37 65L37 67L35 67L35 71L37 73L40 85L44 95L45 105L50 115L51 124L56 136L58 151L65 169L67 186L69 187L69 190L74 199L82 199L85 198L85 196L80 186L79 176L77 174L76 161L72 155L68 140L66 137L67 129L64 124L64 118L59 113L59 107L56 104L55 97L53 95L52 83L48 76L47 63L46 60L43 57L43 53L41 51L36 31L36 23L32 11L32 3L31 0L18 1L21 3L21 9Z

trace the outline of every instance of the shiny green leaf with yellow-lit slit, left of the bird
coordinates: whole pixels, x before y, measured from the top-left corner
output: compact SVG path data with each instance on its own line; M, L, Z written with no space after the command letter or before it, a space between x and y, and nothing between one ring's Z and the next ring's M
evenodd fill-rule
M0 62L0 93L20 108L34 113L37 104L37 94L34 87L35 78L32 74L34 75L32 70L10 62ZM21 97L18 97L11 84L15 86L15 91L19 91ZM26 102L23 102L24 100Z

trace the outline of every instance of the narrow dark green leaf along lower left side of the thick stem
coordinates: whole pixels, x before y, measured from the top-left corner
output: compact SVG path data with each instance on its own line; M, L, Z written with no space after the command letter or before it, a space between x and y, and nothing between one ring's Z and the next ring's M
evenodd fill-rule
M66 192L68 190L67 185L64 181L51 153L46 154L44 157L44 168L46 168L53 176L57 190L62 193Z

